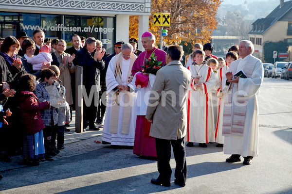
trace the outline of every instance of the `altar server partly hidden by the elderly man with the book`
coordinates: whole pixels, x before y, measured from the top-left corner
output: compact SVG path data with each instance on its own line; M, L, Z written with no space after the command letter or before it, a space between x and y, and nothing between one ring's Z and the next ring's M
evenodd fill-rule
M223 109L224 109L224 100L225 95L222 94L223 87L222 80L226 79L226 72L229 70L229 66L232 62L238 59L238 55L236 52L231 51L226 54L226 66L223 66L219 69L218 76L217 76L217 84L219 85L217 89L217 97L219 98L219 110L218 110L218 118L217 124L215 129L215 138L216 142L218 143L217 147L223 147L224 144L224 137L222 136L222 125L223 125Z

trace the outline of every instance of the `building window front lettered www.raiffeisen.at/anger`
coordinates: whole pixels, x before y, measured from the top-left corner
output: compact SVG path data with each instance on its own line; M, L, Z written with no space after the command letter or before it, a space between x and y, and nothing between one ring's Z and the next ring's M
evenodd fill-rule
M78 34L99 39L108 52L114 51L115 17L0 12L0 37L17 36L19 32L26 32L33 37L36 29L43 30L46 38L64 39L67 48L72 46L73 34Z

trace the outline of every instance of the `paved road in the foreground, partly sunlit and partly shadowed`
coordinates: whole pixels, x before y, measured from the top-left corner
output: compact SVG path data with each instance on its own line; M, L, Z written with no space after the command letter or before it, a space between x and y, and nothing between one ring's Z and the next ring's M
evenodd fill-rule
M264 79L258 99L259 157L252 165L224 162L229 156L216 144L186 147L186 186L156 186L150 183L158 176L156 161L139 159L131 149L95 143L101 131L68 133L57 160L1 171L0 194L292 194L291 85ZM173 157L171 166L174 171Z

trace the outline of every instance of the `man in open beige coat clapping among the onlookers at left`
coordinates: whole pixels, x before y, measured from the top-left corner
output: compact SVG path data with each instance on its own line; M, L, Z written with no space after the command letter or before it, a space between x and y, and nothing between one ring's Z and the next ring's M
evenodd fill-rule
M72 89L71 89L71 74L75 72L75 66L73 64L73 59L75 58L75 54L70 55L65 52L67 48L67 44L65 40L59 40L57 43L57 49L55 50L55 55L59 62L59 69L60 69L60 77L59 79L62 81L61 85L63 85L66 89L66 101L69 105L73 104L73 96L72 96ZM72 113L71 113L72 114Z

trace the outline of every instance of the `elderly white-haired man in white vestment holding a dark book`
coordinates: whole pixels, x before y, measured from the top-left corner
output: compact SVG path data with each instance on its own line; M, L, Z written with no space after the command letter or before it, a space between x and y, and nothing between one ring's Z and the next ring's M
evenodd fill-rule
M263 81L263 65L252 56L251 41L242 40L238 52L241 58L231 63L222 81L222 93L226 93L222 135L224 154L232 154L226 162L240 162L242 156L243 164L248 165L258 155L257 95Z

